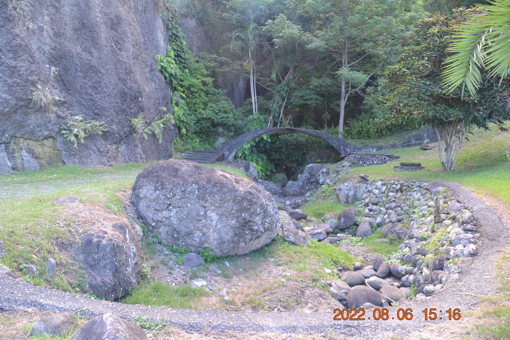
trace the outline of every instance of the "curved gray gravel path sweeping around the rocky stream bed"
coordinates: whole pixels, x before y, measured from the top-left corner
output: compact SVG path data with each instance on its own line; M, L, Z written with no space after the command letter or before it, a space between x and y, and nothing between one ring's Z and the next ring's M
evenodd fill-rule
M359 336L362 338L379 338L381 332L386 335L406 336L412 331L419 331L425 324L425 308L437 308L438 318L433 323L445 324L447 309L459 308L461 315L472 310L480 296L492 295L497 285L492 275L495 274L496 260L501 256L500 250L508 248L510 233L496 212L464 187L450 182L438 182L433 188L450 189L453 196L466 204L473 212L482 230L482 242L479 254L474 257L471 267L461 274L461 279L442 293L423 302L413 302L405 306L390 307L388 321L333 321L334 312L227 312L218 310L184 310L162 307L125 305L120 303L92 300L79 295L48 290L33 286L27 282L16 282L0 275L0 311L19 310L35 307L39 311L71 311L86 316L97 316L113 312L127 320L136 316L145 316L149 320L166 320L172 326L189 331L213 329L217 331L234 330L242 332L278 331L283 333L331 332L339 335ZM490 274L490 275L487 275ZM411 308L414 318L411 321L397 320L398 308ZM442 310L443 312L439 312ZM367 311L365 318L372 316ZM392 320L392 318L394 318ZM373 318L372 318L373 319ZM430 324L430 321L427 322Z

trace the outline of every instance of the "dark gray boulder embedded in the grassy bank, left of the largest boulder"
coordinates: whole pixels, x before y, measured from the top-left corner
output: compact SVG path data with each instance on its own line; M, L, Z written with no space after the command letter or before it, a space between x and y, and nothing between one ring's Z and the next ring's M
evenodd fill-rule
M88 288L97 297L113 301L129 293L140 273L140 240L133 227L115 223L81 238L80 262L87 271Z

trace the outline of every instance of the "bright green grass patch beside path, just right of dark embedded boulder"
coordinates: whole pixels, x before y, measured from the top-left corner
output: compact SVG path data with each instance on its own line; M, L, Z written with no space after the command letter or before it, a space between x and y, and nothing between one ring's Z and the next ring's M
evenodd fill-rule
M206 289L195 288L189 284L170 286L162 282L143 283L136 286L120 302L144 306L195 309L198 307L197 303L200 298L207 294L209 292Z

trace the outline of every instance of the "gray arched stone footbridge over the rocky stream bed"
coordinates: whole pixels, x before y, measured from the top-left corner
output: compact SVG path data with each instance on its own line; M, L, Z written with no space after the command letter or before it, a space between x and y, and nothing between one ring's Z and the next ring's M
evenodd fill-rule
M314 136L320 139L327 141L329 144L333 145L335 149L340 152L340 154L344 155L350 152L358 151L354 146L345 142L344 140L335 137L333 135L326 134L325 132L319 130L310 130L306 128L298 128L298 127L268 127L260 130L255 130L252 132L248 132L244 135L234 138L228 143L225 143L221 146L221 151L224 152L224 157L226 160L232 160L236 156L237 150L243 146L244 143L249 142L253 138L257 138L264 134L268 135L288 135L288 134L304 134L309 136Z

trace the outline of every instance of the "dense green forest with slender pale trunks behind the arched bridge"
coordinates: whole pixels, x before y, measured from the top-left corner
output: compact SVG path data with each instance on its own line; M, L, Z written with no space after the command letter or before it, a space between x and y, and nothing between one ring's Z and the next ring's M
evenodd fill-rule
M395 115L381 100L388 89L381 86L385 70L415 44L412 33L420 20L475 6L470 0L158 2L169 21L171 44L159 67L174 93L175 123L182 141L202 147L272 126L322 129L341 138L418 126L412 114ZM209 35L198 59L171 23L183 16ZM245 100L235 108L220 89L239 75ZM270 142L247 145L245 158L265 153L250 160L272 170Z

